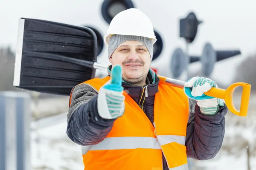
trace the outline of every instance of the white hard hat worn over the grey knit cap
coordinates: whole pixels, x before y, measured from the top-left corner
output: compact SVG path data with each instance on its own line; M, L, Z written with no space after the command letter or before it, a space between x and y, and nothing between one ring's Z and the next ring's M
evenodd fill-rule
M112 34L148 37L151 38L152 44L157 41L151 20L136 8L130 8L116 14L104 36L106 45L109 44Z

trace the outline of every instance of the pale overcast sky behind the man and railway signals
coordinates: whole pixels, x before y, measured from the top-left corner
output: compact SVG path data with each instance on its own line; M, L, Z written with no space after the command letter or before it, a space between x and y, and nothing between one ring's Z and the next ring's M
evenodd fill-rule
M101 15L102 2L103 0L1 0L0 46L11 45L15 49L20 17L90 25L99 29L104 35L108 24ZM256 2L253 0L134 0L133 2L136 8L148 15L155 30L163 38L165 46L161 59L169 59L177 47L185 50L184 40L179 37L179 19L186 17L190 11L194 11L198 19L203 20L204 23L199 26L198 35L189 46L189 54L200 55L206 42L210 42L215 49L240 49L242 55L222 62L226 65L228 61L230 61L228 63L231 63L231 60L232 63L237 63L240 61L239 58L256 52ZM99 56L99 61L108 61L106 55L105 47ZM156 62L160 62L160 59ZM231 66L226 69L230 70ZM228 71L226 72L229 74Z

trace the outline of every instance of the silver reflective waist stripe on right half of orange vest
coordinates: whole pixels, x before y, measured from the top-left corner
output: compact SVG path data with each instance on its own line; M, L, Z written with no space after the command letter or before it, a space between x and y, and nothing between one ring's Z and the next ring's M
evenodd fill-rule
M168 143L172 143L172 142L185 145L185 141L186 141L185 136L177 136L177 135L157 135L157 139L161 146Z

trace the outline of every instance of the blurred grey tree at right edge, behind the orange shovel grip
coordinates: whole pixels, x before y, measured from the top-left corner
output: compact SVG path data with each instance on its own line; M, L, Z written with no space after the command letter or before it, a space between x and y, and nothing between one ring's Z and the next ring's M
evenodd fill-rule
M256 90L256 54L247 57L239 64L234 82L247 82L251 85L251 90Z

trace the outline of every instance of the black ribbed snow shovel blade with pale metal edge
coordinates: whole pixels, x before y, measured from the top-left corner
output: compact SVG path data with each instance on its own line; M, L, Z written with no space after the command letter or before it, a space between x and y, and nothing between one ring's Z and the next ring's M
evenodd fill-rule
M97 37L90 28L21 18L13 85L29 91L70 95L74 86L94 78L96 69L67 62L67 57L96 62L96 56Z

